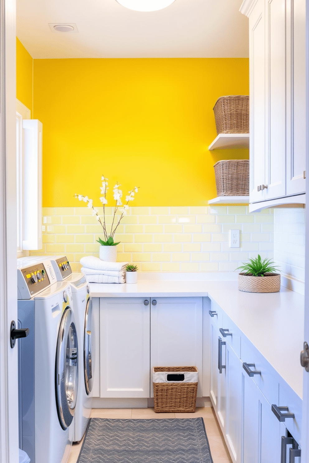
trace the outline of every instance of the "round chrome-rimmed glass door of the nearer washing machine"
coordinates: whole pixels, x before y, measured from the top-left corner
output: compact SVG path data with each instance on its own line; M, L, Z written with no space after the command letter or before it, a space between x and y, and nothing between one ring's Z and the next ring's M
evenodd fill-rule
M63 429L72 423L78 386L78 349L74 315L69 306L63 312L57 339L55 368L56 404Z

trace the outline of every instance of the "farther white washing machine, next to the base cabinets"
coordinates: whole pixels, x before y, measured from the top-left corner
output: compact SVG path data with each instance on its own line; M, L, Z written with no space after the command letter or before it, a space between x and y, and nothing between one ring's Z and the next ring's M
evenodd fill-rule
M38 262L39 258L38 256L26 257L26 262ZM48 271L55 275L59 282L69 283L72 290L80 359L73 442L79 442L90 419L93 397L92 366L95 339L91 294L85 275L72 272L66 256L42 256L41 258L48 263Z

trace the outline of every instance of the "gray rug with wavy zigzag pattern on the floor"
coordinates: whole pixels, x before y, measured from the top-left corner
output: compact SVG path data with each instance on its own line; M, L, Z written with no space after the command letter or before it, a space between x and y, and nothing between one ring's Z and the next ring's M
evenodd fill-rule
M92 418L77 463L213 463L202 418Z

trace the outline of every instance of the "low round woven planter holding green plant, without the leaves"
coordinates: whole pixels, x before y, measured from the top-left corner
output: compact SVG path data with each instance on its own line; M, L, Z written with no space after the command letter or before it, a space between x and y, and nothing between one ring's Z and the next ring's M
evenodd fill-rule
M281 277L278 273L265 273L264 276L238 274L238 289L247 293L278 293Z

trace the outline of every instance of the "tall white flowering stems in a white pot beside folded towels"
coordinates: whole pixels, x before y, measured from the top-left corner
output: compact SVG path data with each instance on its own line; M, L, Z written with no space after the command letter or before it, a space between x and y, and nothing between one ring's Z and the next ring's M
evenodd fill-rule
M100 188L101 188L102 196L100 198L100 201L103 204L103 216L99 215L98 209L93 206L92 200L89 199L88 196L83 196L82 194L75 194L74 196L76 199L79 199L80 201L84 201L85 203L87 203L87 206L90 209L92 209L92 215L95 216L95 219L97 220L98 223L101 224L103 228L105 241L102 240L101 238L97 239L97 242L101 244L99 248L100 259L103 261L107 261L107 262L116 262L117 260L117 247L116 246L117 244L120 243L120 241L118 241L118 243L114 242L114 234L116 232L118 225L120 224L121 219L126 215L126 211L129 209L128 203L134 200L134 194L139 191L139 187L134 187L131 191L128 192L129 194L126 195L126 204L122 205L122 201L121 201L122 190L120 190L119 188L121 187L121 185L119 185L118 182L116 182L116 185L113 188L114 200L116 201L116 203L114 206L114 214L113 214L113 221L111 225L111 231L108 233L106 222L105 222L105 205L107 204L106 194L108 190L108 186L107 186L108 178L105 178L104 175L102 175L101 180L102 180L102 186ZM118 214L121 214L120 218L117 212Z

